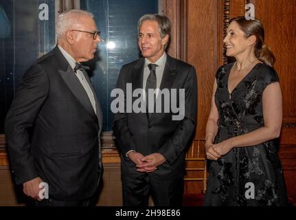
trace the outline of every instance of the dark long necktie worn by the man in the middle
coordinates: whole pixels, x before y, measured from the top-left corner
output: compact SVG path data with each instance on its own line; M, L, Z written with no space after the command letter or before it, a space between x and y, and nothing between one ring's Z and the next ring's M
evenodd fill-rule
M156 69L157 65L156 64L148 64L148 68L150 69L150 74L147 78L146 81L146 111L148 113L148 106L149 105L154 105L155 103L155 96L150 97L149 96L149 89L156 89L156 85L157 85L157 81L156 81L156 73L155 73L155 69ZM150 100L150 102L149 102ZM154 110L155 108L153 108ZM148 118L150 118L151 113L148 113Z

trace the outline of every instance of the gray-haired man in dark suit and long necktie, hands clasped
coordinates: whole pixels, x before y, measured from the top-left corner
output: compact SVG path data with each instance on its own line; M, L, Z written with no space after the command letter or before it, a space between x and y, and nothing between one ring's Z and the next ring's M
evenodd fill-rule
M143 93L144 110L149 109L148 113L133 109L119 111L114 116L113 131L122 157L124 206L147 206L150 195L156 206L180 206L182 203L185 150L196 125L197 79L192 65L166 54L170 27L165 16L146 14L141 17L138 43L144 58L124 65L117 80L117 89L124 91L125 109L130 108L127 100L133 103L136 100L128 97L128 83L133 91L156 91L155 95ZM166 89L170 97L161 99ZM172 93L173 89L177 92ZM182 90L184 96L179 93ZM154 105L154 102L160 103L159 98L160 108ZM179 113L179 120L174 120L177 115L168 100L183 106L185 111ZM170 107L166 103L170 103ZM161 112L155 112L157 108Z

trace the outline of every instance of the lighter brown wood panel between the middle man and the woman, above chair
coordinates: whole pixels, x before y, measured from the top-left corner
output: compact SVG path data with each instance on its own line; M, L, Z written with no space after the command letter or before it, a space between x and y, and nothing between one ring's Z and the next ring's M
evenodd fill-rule
M187 59L198 77L198 122L196 138L205 136L214 75L216 72L216 1L187 1Z

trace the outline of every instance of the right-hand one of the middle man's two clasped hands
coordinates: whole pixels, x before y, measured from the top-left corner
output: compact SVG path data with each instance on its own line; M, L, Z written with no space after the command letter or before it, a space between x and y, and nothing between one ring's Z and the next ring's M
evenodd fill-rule
M160 166L166 161L166 158L163 157L160 153L152 153L141 158L141 164L137 164L137 170L145 169L146 172L153 172L157 169L157 166Z

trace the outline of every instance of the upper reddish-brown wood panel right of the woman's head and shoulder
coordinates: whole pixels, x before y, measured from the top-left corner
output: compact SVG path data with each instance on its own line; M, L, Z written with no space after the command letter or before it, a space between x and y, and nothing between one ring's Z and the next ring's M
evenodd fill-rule
M255 9L256 16L264 23L265 43L275 54L284 117L296 117L296 1L258 0Z

